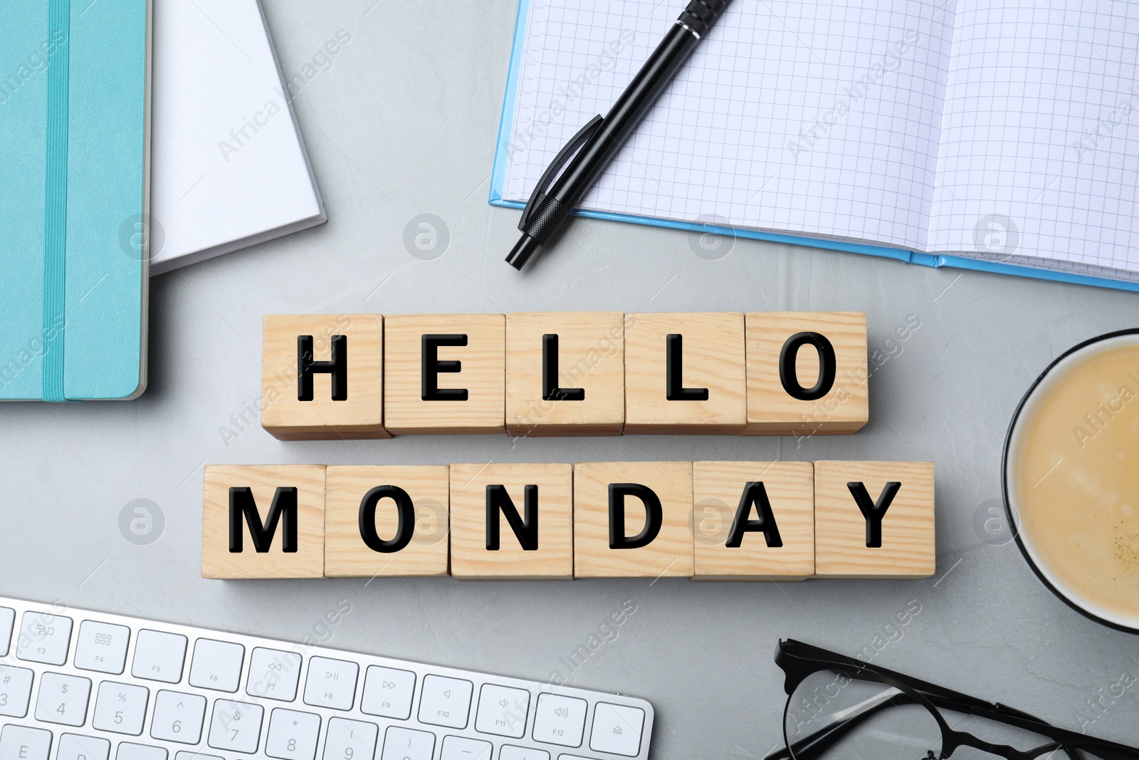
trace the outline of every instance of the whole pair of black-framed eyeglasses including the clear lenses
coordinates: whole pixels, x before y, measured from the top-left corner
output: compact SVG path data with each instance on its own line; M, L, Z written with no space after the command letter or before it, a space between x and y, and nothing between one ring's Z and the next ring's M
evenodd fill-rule
M794 639L780 640L786 749L764 760L1139 760L1139 749Z

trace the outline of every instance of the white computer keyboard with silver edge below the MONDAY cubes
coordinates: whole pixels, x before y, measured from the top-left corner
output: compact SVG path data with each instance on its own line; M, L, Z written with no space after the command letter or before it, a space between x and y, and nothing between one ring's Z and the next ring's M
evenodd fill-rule
M0 760L647 760L645 700L0 597Z

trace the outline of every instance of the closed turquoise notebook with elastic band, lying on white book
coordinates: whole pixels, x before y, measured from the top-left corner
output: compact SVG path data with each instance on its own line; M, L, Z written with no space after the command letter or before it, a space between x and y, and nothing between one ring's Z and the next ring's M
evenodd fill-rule
M0 0L0 399L146 386L148 0Z

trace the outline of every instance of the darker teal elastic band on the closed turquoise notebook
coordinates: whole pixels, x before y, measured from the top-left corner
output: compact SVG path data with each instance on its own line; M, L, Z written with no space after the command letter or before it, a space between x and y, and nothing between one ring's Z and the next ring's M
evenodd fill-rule
M67 76L71 0L48 0L47 190L43 230L43 400L64 401L64 300L67 251Z

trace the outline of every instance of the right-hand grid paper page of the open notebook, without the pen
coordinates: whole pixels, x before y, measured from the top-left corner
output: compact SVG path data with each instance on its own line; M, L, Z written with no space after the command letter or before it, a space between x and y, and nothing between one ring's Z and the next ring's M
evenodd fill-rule
M928 250L1139 269L1137 51L1134 2L960 0Z

